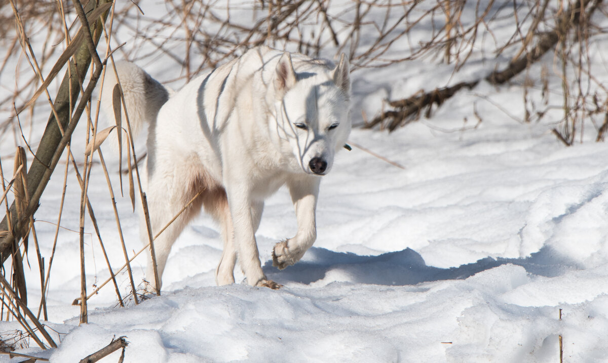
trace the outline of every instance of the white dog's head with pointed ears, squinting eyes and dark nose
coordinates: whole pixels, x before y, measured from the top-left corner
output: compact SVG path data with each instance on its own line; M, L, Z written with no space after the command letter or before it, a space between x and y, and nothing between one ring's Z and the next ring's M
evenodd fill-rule
M289 53L276 67L277 117L289 140L299 168L306 174L325 175L336 151L350 134L350 76L342 54L333 69L314 67L314 72L295 73Z

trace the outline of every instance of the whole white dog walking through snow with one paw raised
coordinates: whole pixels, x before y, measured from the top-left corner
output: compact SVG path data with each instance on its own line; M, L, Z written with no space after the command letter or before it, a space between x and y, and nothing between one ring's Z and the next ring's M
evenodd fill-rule
M221 225L224 242L216 283L234 282L238 256L249 285L279 288L264 276L255 242L264 198L287 185L294 203L297 233L272 251L273 265L283 269L316 239L320 176L330 171L351 129L348 59L343 54L334 66L257 47L179 92L132 63L116 67L132 129L150 124L145 191L153 234L202 191L154 241L159 277L171 245L204 206ZM107 79L112 73L102 93L106 110L116 84L114 76ZM147 243L145 219L140 220ZM152 289L161 288L153 271L149 257L147 278Z

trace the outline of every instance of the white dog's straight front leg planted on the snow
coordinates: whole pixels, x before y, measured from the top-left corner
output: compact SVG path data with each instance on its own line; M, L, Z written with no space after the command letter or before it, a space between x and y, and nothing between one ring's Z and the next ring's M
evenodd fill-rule
M251 194L247 185L231 185L227 188L228 205L232 216L234 242L238 261L247 283L252 286L280 288L281 285L266 279L260 263L260 253L255 241L254 216L252 216Z

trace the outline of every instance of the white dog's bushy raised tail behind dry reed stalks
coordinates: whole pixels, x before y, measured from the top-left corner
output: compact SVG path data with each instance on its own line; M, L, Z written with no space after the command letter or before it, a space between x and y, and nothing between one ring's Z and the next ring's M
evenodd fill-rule
M116 63L116 73L125 97L126 112L128 112L129 124L133 138L139 134L146 123L156 122L156 115L161 106L169 99L169 90L162 84L154 80L143 69L127 61ZM114 124L113 93L114 86L119 81L116 80L114 69L108 64L106 70L103 90L100 95L102 109L109 119L110 124ZM125 109L121 109L122 127L126 126Z

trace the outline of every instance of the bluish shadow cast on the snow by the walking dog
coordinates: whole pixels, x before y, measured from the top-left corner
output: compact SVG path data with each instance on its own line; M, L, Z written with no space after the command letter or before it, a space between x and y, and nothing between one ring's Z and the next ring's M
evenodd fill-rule
M525 268L528 273L554 277L567 270L578 268L575 263L559 256L549 247L543 247L530 257L520 259L492 259L486 257L474 263L452 268L427 266L424 259L413 249L407 248L379 256L359 256L340 253L325 248L311 248L305 260L279 271L272 260L264 264L263 270L269 279L282 283L313 283L330 273L341 281L376 285L415 285L437 280L466 279L481 271L512 263Z

